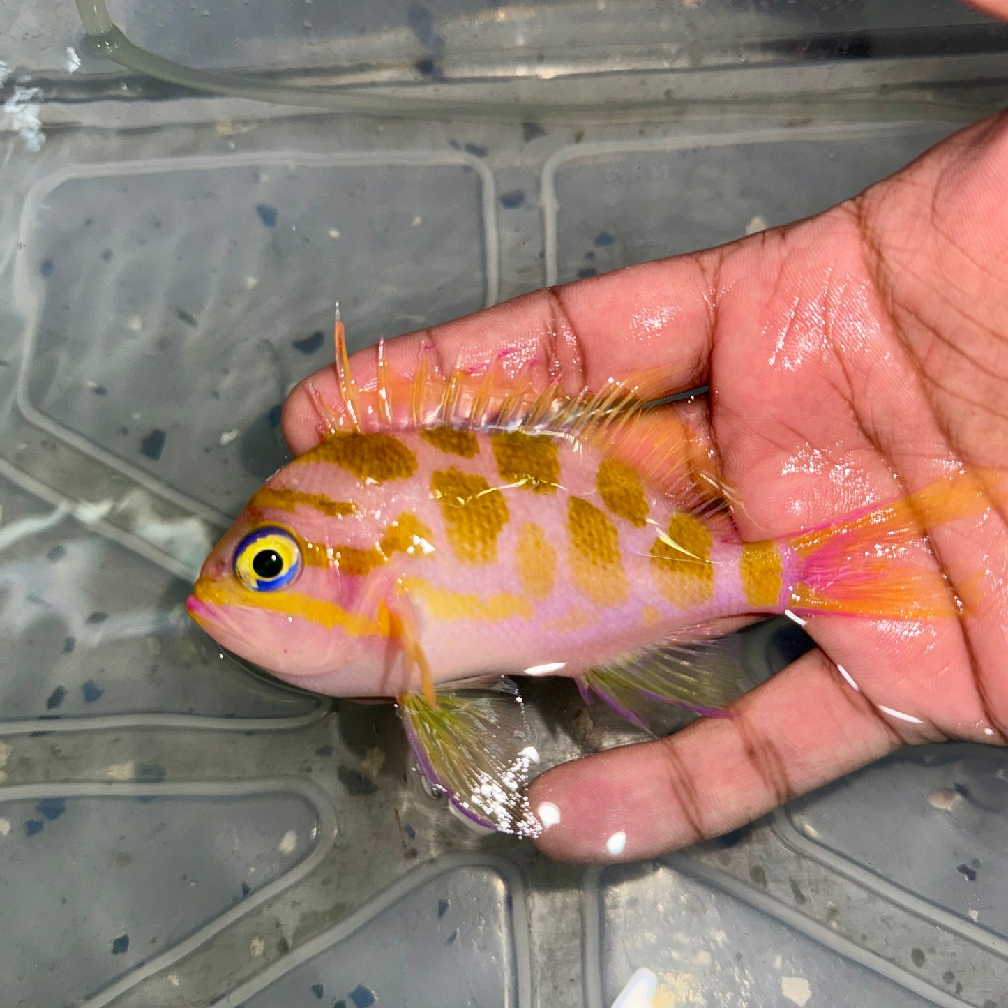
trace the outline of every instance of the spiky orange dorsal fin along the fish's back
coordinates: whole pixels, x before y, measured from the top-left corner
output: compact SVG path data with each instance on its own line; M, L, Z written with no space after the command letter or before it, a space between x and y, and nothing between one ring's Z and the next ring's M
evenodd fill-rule
M421 344L411 376L393 369L384 340L376 347L373 388L358 385L350 370L346 334L337 306L334 408L308 386L331 432L450 426L470 430L523 430L553 434L598 448L629 465L648 484L731 534L734 495L721 479L702 438L661 401L678 391L671 371L650 368L610 378L601 388L571 395L560 379L537 379L544 363L517 363L517 348L498 352L482 366L457 364L447 374L433 347Z

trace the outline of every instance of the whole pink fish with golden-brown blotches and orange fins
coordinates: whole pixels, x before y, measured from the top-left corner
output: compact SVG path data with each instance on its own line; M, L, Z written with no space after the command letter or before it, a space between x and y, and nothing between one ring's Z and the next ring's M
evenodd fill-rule
M968 473L794 536L743 542L737 506L683 423L650 412L660 372L566 395L508 376L412 378L379 347L318 400L326 436L253 496L188 611L296 685L397 703L421 769L466 815L534 836L535 758L508 676L566 675L638 723L649 703L723 711L739 691L728 618L956 617L921 518L986 506Z

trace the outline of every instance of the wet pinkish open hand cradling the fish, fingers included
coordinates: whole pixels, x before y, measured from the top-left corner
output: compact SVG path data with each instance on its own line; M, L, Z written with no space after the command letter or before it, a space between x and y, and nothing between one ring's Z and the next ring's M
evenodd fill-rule
M721 248L537 291L393 341L449 365L504 348L572 388L662 364L709 385L699 422L747 540L785 535L1008 457L1005 117L972 127L856 200ZM396 363L398 362L398 363ZM374 375L374 356L354 361ZM338 400L331 371L310 379ZM697 410L694 407L696 414ZM284 433L320 437L302 384ZM571 860L655 855L716 836L904 743L1008 741L1006 516L929 530L970 600L960 620L820 615L818 648L744 697L731 719L557 767L532 806Z

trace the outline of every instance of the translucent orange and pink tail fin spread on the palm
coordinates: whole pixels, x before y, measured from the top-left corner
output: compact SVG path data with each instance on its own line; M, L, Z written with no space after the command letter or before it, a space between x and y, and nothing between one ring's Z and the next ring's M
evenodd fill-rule
M937 570L926 530L1004 504L1003 473L963 470L786 539L797 560L789 608L890 619L962 616L970 586L954 589Z

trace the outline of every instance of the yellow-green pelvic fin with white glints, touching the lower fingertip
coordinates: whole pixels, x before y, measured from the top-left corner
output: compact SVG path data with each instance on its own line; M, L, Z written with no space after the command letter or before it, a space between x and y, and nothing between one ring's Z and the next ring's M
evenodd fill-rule
M408 694L398 710L420 769L463 814L501 833L538 836L525 796L528 766L538 756L513 682L439 692L433 704Z

